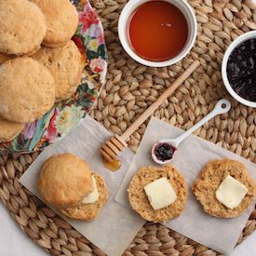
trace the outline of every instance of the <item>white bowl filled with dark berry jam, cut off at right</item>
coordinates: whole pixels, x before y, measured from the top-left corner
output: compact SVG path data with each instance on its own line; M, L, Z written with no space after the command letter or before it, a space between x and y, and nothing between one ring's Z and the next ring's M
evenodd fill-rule
M256 31L238 36L226 49L222 80L236 101L256 108Z

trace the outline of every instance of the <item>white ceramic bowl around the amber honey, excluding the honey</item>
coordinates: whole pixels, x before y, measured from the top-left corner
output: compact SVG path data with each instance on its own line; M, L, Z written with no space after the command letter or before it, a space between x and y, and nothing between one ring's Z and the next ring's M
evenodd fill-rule
M130 0L128 1L128 4L126 7L124 7L119 21L118 21L118 34L119 39L121 41L122 46L128 53L128 55L135 61L140 62L143 65L151 66L151 67L167 67L169 65L172 65L178 61L181 61L191 50L191 48L195 44L195 38L197 34L197 23L195 19L194 10L185 0L163 0L170 4L172 4L175 7L178 7L182 14L184 15L187 24L188 24L188 38L185 46L183 47L182 51L175 57L168 61L147 61L142 59L139 55L137 55L132 47L129 44L129 38L128 38L128 22L129 18L132 15L132 13L137 9L137 7L140 7L142 4L149 2L150 0Z

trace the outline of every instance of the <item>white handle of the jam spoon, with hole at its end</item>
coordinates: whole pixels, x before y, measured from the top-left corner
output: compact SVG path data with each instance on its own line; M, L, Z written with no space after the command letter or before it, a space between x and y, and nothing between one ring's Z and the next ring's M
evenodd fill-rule
M185 140L190 134L194 133L197 128L202 127L205 123L207 123L211 118L216 115L221 115L227 113L231 108L231 103L225 99L218 101L214 107L214 109L202 118L198 123L195 124L192 128L189 128L185 132L183 132L179 137L177 137L172 141L173 146L178 147L178 145Z

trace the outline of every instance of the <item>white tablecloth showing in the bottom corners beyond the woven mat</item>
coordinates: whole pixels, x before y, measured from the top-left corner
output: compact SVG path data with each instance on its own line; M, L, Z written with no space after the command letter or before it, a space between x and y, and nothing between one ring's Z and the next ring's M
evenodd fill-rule
M1 256L47 256L47 252L24 235L7 209L0 204L0 255ZM255 256L256 232L236 247L231 256ZM109 255L111 256L111 255Z

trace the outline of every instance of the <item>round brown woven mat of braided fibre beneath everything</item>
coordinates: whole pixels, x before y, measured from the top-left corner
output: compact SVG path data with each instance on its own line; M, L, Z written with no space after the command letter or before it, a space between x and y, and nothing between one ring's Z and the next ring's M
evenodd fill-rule
M105 29L109 73L101 97L91 115L105 128L121 134L167 88L193 60L201 67L172 97L155 111L155 116L187 129L209 113L215 101L226 95L221 63L224 49L238 36L256 29L256 6L246 0L191 0L198 22L198 36L191 54L168 68L147 68L128 58L119 44L117 22L127 0L92 0ZM232 101L232 99L229 98ZM256 162L256 112L232 101L228 115L217 116L196 134ZM146 124L128 141L136 151ZM67 222L23 188L18 179L39 153L0 155L0 198L20 228L53 255L104 255ZM256 226L256 210L237 243ZM111 246L111 245L110 245ZM220 255L161 224L146 223L124 255Z

